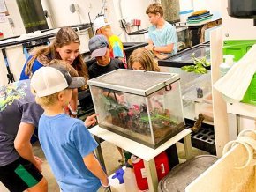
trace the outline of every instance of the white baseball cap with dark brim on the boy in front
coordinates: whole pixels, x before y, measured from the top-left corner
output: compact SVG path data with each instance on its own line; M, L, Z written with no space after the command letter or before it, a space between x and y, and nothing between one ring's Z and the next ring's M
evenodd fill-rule
M72 78L62 66L47 66L36 70L31 78L30 85L37 97L44 97L66 88L79 88L86 84L83 77Z

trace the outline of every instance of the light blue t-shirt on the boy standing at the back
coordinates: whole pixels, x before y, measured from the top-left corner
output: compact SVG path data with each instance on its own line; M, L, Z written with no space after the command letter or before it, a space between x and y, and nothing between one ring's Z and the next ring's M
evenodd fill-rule
M177 54L177 34L174 26L165 21L164 26L161 29L157 29L156 26L150 26L148 28L149 38L153 41L155 47L162 47L174 43L173 51L167 55Z

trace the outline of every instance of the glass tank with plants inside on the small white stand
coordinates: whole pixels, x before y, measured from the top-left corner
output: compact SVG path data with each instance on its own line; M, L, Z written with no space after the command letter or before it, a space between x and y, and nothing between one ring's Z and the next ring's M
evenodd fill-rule
M87 83L104 129L154 149L184 129L177 74L120 69Z

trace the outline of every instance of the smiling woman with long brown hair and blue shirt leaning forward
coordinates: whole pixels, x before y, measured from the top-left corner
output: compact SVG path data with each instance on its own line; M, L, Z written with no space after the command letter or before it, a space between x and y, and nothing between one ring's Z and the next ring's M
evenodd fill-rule
M35 48L27 59L19 80L30 78L43 66L48 66L53 59L63 60L78 71L80 77L88 79L87 65L79 53L79 35L71 27L63 27L56 33L55 40L49 46ZM81 89L86 89L87 84ZM70 104L70 114L77 114L78 90L74 89ZM73 115L75 117L76 115Z

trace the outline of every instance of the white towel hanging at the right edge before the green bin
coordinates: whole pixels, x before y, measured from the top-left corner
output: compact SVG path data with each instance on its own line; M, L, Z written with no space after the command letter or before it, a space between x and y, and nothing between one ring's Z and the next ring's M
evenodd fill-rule
M215 89L233 100L243 100L256 71L256 44L214 85Z

